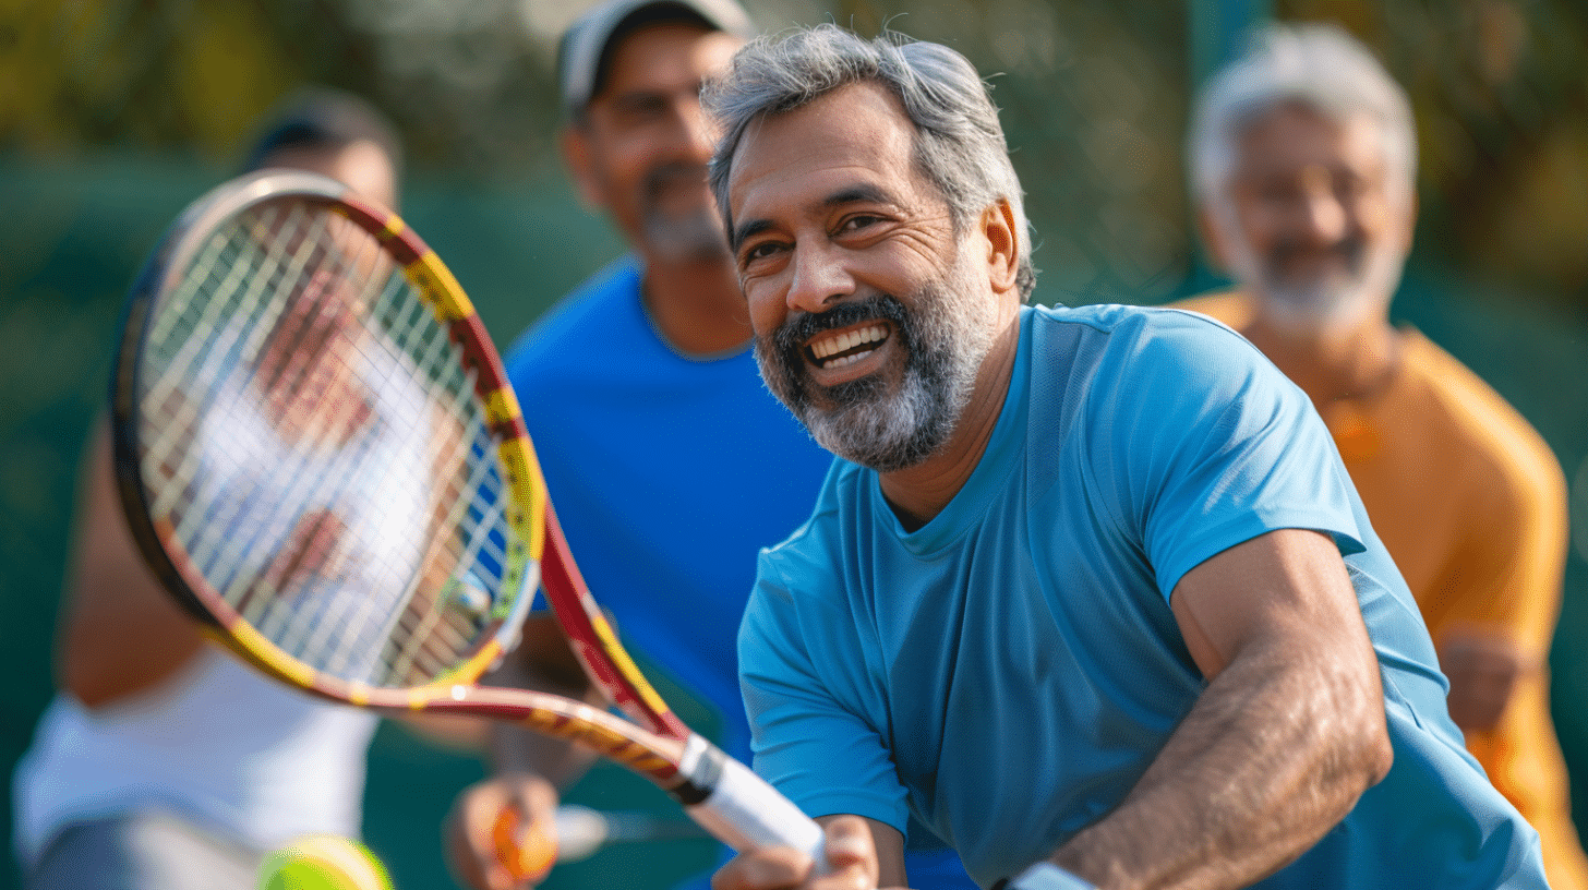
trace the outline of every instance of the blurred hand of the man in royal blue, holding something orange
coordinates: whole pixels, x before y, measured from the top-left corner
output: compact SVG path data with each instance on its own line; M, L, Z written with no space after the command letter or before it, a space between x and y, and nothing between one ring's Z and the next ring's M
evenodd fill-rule
M507 817L507 825L499 823ZM497 852L505 828L516 847L543 850L534 873L515 874ZM459 884L473 890L521 890L540 884L556 861L557 790L529 772L503 772L464 788L446 815L446 852Z

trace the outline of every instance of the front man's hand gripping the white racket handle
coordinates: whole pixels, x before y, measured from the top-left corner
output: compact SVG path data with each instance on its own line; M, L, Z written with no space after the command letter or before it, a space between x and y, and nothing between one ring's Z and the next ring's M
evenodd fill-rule
M865 820L838 815L823 820L827 871L792 847L740 853L711 877L711 890L872 890L877 887L877 846Z

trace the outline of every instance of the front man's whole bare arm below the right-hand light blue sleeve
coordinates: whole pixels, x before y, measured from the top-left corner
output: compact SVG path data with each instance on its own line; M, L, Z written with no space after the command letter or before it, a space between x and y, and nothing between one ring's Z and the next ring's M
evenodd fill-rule
M1326 536L1232 547L1170 606L1208 687L1120 807L1053 855L1108 890L1245 887L1310 849L1393 758L1378 663Z

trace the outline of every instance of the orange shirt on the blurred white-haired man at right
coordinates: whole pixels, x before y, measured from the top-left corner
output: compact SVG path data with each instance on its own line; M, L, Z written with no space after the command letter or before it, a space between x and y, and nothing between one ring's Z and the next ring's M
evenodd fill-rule
M1235 329L1253 312L1243 294L1175 307ZM1569 545L1566 477L1532 426L1466 366L1416 331L1402 329L1401 343L1385 388L1323 407L1323 420L1434 642L1478 631L1537 664L1494 729L1466 734L1467 750L1539 830L1550 885L1588 890L1547 671Z

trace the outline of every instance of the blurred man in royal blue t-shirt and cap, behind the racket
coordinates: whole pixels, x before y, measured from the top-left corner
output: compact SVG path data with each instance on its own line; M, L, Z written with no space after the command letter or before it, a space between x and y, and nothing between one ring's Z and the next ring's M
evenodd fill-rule
M630 652L710 702L723 747L746 761L735 637L756 553L810 515L831 464L761 383L705 181L716 134L700 84L751 35L732 0L618 0L569 29L559 49L564 157L581 199L634 253L507 356L586 580ZM565 650L553 621L530 618L524 633L519 656L492 682L589 693L572 658L534 655L546 652L535 645L543 634L553 652ZM588 760L518 729L495 734L492 760L495 776L468 788L448 820L453 865L472 887L522 887L537 876L515 879L495 861L497 814L548 818L554 785ZM915 853L912 868L915 887L973 887L940 846Z

